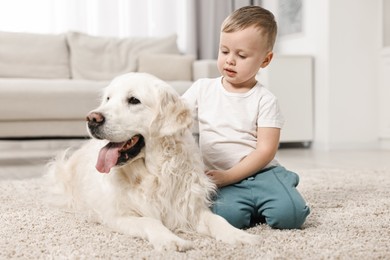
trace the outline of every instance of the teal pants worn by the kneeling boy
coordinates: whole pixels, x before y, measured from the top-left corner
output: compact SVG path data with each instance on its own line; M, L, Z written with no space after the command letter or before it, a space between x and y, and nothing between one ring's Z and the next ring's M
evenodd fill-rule
M299 176L284 167L262 170L218 190L212 211L237 228L267 223L272 228L300 228L310 213L296 186Z

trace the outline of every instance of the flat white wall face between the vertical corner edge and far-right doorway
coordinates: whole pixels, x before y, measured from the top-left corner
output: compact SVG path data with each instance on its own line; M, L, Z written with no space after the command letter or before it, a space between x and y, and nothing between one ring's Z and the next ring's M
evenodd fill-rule
M330 147L377 146L380 1L332 0L329 10Z

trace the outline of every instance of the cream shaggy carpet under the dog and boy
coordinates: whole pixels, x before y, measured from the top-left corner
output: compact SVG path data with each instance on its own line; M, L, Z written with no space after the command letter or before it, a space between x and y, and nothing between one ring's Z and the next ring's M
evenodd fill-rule
M258 247L198 235L185 253L157 252L80 216L47 207L41 180L0 181L0 259L390 259L390 170L303 170L312 214L302 230L249 229Z

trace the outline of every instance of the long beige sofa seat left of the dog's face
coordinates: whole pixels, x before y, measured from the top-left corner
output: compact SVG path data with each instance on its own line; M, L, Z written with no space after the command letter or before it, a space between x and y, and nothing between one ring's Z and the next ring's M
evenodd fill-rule
M0 122L84 120L109 81L0 79Z

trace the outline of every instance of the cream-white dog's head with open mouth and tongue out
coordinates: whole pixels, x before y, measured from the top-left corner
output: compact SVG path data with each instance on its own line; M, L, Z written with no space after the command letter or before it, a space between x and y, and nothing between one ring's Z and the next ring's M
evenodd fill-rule
M175 90L146 73L115 78L100 106L87 116L90 135L109 141L99 154L101 172L137 156L151 138L180 134L191 123L190 111Z

